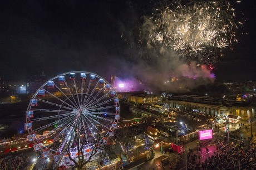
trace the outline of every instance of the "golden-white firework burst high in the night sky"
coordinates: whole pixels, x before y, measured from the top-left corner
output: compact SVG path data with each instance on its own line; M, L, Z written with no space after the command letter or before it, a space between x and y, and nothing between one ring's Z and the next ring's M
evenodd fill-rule
M214 63L222 49L237 42L235 30L242 25L226 0L176 0L156 9L147 22L150 47L174 50L200 64Z

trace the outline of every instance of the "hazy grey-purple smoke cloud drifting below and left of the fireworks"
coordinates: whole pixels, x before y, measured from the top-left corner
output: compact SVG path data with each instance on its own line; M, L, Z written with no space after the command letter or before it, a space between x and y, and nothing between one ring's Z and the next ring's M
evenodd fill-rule
M169 92L189 92L214 82L214 74L204 65L198 65L196 61L187 63L169 48L152 47L149 39L152 22L147 17L141 18L136 9L130 10L132 20L129 22L125 18L125 22L120 23L121 36L128 47L125 49L126 58L119 59L117 75L120 79L141 84L136 90ZM134 20L140 24L135 25Z

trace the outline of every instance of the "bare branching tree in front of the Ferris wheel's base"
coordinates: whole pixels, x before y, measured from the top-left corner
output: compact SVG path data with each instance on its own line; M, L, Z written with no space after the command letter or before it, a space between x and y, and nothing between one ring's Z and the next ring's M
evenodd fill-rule
M104 125L96 126L97 131L92 132L81 119L69 128L68 136L63 139L66 141L62 142L62 152L67 154L73 168L85 169L88 162L109 148L107 138L101 132Z

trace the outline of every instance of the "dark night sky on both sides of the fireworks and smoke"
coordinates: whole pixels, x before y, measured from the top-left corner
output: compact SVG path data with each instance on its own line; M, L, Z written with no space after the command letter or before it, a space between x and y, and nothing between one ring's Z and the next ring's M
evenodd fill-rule
M145 2L145 3L144 3ZM1 1L0 76L24 79L72 70L90 71L109 79L126 72L129 45L121 37L151 11L149 1ZM247 19L234 50L216 65L221 81L255 80L255 1L238 10ZM137 27L137 26L135 26ZM129 73L126 73L129 75Z

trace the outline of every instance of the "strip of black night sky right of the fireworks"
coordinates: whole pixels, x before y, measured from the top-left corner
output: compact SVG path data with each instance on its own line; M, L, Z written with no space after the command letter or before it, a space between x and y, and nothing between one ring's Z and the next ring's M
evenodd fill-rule
M240 32L247 33L238 36L234 50L226 50L223 58L216 65L216 79L221 81L256 81L256 1L242 1L235 5L236 11L242 12L246 21Z

